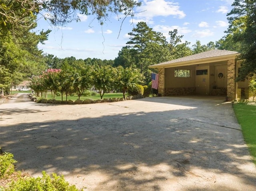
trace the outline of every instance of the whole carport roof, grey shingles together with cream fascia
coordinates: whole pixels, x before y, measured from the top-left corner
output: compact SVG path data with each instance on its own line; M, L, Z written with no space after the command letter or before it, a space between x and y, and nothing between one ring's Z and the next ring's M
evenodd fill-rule
M198 54L178 58L175 60L170 60L167 62L155 64L149 66L150 68L159 68L159 67L171 67L172 65L183 65L186 63L202 63L205 61L208 62L215 62L215 61L223 61L228 58L236 57L236 55L239 55L239 52L235 51L227 51L227 50L209 50L206 52L201 52ZM176 63L176 64L175 64Z

